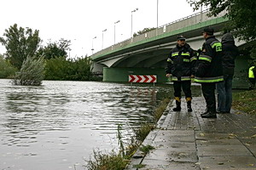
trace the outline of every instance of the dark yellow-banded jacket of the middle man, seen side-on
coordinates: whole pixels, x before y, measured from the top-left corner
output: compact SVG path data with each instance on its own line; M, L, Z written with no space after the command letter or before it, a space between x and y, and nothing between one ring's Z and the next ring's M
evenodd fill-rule
M207 37L196 62L195 82L224 81L222 44L214 37Z

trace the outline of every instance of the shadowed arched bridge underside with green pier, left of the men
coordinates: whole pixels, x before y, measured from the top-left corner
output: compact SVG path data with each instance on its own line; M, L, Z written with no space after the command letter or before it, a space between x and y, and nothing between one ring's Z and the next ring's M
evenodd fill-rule
M166 82L166 56L171 48L157 48L127 54L103 67L104 82L128 82L128 75L156 75L157 82ZM110 63L107 61L105 65Z

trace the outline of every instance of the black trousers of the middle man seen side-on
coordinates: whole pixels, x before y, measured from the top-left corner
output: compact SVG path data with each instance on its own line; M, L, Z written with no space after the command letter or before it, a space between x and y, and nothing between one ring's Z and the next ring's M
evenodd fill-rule
M207 111L216 112L215 82L201 83L201 91L207 102Z

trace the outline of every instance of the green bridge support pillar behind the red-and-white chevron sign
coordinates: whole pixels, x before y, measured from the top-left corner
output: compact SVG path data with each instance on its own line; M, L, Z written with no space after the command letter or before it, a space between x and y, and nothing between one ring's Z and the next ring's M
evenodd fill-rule
M129 82L128 75L156 75L157 82L167 82L164 68L103 68L103 82Z

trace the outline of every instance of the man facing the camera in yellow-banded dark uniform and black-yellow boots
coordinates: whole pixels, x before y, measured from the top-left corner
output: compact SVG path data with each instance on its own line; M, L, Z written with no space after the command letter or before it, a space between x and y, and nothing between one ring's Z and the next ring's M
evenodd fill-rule
M192 64L195 63L193 49L186 43L183 36L177 37L176 48L173 48L167 59L166 77L172 76L176 107L173 111L181 111L181 90L186 97L188 111L191 108L191 77L194 77L195 70Z

